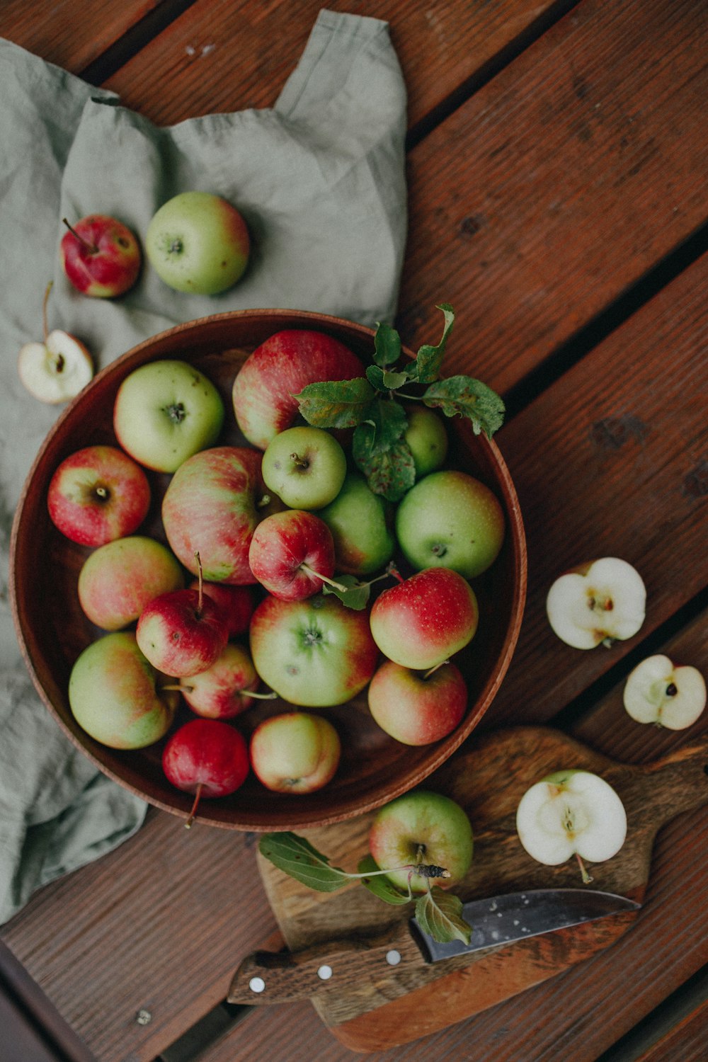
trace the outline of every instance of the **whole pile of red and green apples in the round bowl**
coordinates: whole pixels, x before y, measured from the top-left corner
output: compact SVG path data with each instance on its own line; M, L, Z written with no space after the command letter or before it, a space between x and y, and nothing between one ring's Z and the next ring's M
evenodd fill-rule
M231 412L189 362L146 362L118 389L117 445L72 453L50 481L52 521L90 547L77 595L100 632L73 665L71 710L110 748L167 737L165 773L196 800L236 791L251 770L273 791L322 788L341 739L321 709L367 686L376 723L407 744L465 715L451 657L477 631L470 580L501 549L503 511L445 466L434 410L409 416L417 478L397 504L369 489L345 434L298 423L304 387L362 375L338 340L280 331L245 360ZM227 415L245 445L220 445ZM160 529L145 534L153 474L169 479ZM276 697L284 709L246 739L238 717ZM173 729L180 699L194 718Z

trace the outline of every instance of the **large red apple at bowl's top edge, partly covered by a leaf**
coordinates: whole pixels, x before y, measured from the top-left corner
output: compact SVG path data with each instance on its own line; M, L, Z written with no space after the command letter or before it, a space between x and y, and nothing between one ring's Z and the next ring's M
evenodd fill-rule
M234 411L249 443L264 450L297 416L294 397L308 383L364 375L359 358L339 340L309 329L286 329L246 358L234 381Z

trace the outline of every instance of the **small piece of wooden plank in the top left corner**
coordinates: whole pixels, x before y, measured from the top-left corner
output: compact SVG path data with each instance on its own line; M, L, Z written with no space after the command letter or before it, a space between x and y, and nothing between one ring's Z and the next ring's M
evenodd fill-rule
M3 0L0 36L71 73L102 55L162 0L55 0L37 17L27 0Z

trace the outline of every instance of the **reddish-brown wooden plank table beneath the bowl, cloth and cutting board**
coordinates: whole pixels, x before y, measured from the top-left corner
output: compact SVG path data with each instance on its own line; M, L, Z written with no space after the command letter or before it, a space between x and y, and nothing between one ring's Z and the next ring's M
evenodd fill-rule
M438 332L435 304L450 302L446 372L481 376L507 402L497 440L524 515L530 583L516 655L484 725L547 722L616 758L654 759L708 723L706 713L688 732L659 731L621 704L628 670L652 652L708 673L708 5L330 7L387 20L408 84L410 237L396 324L415 349ZM0 34L171 124L272 105L318 8L5 0ZM645 623L611 651L570 650L549 630L546 593L564 567L607 554L642 573ZM187 835L151 811L133 840L45 888L0 933L10 949L0 1021L24 1015L16 1054L2 1055L3 1034L0 1056L361 1057L309 1003L239 1022L223 1006L238 960L276 929L256 843L218 829ZM434 1043L377 1057L704 1059L706 851L706 808L674 819L655 846L645 906L614 947ZM21 1035L42 1029L64 1055L19 1049ZM90 1054L70 1046L74 1035Z

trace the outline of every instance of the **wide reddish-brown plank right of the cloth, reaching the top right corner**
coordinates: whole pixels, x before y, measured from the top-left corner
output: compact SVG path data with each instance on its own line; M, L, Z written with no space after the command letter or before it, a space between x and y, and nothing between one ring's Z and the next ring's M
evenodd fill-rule
M693 0L583 0L415 148L404 341L449 302L446 373L506 391L697 229L707 45Z

